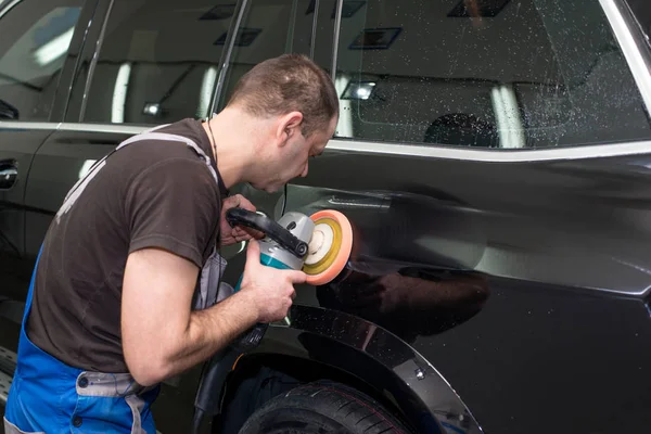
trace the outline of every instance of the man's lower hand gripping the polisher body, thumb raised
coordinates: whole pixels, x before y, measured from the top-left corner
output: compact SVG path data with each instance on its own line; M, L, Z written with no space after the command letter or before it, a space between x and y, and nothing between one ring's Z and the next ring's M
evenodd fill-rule
M294 284L304 283L303 271L281 270L260 264L260 246L251 240L240 292L246 294L257 310L258 322L280 321L286 317L296 295Z

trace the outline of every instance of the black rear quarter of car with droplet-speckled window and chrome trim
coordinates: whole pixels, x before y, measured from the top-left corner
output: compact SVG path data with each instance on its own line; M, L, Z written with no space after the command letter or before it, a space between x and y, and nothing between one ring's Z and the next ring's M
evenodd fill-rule
M651 76L621 3L344 2L335 29L335 139L286 209L343 212L356 279L295 308L388 329L486 432L651 422Z

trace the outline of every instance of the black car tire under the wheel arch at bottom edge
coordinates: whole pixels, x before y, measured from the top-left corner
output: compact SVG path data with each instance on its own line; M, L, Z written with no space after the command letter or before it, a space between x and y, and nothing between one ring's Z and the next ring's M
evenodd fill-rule
M373 398L341 383L301 385L267 401L240 434L408 434Z

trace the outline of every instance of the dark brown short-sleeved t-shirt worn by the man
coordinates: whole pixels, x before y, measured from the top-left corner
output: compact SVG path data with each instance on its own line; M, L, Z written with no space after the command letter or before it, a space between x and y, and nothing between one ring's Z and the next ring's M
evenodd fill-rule
M36 273L27 334L73 367L128 371L120 302L129 253L161 247L201 268L219 234L227 191L201 123L184 119L155 132L193 140L209 156L219 186L186 143L138 141L110 155L59 222L54 219Z

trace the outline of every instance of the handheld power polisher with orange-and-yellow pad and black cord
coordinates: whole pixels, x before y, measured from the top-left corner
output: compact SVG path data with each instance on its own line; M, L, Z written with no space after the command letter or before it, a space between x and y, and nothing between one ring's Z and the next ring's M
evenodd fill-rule
M226 218L231 226L246 226L265 234L259 241L260 264L303 270L306 283L311 285L334 280L346 267L353 250L350 221L334 209L322 209L311 216L290 212L275 221L261 213L231 208ZM242 277L234 292L240 291ZM194 432L199 432L204 416L217 414L226 376L242 354L259 344L268 327L256 324L205 365L194 403Z

